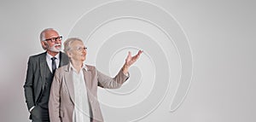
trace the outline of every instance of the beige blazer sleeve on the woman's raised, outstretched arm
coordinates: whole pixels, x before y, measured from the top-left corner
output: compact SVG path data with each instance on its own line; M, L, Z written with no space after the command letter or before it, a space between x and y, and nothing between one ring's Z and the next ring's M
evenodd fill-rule
M97 79L98 79L98 85L102 88L108 88L108 89L117 89L121 87L122 84L125 83L125 81L129 78L130 74L126 76L122 70L119 71L119 73L114 77L108 77L107 75L99 72L96 70Z

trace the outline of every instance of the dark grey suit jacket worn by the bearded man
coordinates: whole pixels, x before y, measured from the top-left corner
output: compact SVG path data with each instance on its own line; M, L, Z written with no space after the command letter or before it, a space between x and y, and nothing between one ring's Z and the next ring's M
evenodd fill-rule
M68 57L66 54L60 52L60 66L68 64ZM26 106L28 110L36 106L40 96L44 90L47 61L46 61L46 52L39 55L32 55L29 57L27 63L26 71L26 82L24 84L25 97L26 97Z

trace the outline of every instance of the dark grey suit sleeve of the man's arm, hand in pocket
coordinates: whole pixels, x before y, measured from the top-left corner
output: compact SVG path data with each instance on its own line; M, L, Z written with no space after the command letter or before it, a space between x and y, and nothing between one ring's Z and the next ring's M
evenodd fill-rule
M34 98L33 98L33 77L34 77L34 71L33 71L33 63L32 63L32 57L29 57L29 60L27 62L27 69L26 69L26 81L23 85L24 92L25 92L25 98L26 98L26 106L28 110L35 106Z

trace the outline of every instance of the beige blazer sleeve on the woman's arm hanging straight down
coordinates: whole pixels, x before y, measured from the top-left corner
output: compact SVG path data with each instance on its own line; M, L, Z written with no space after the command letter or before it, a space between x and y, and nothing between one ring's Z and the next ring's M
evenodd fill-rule
M60 115L60 90L61 90L61 78L58 70L56 70L55 77L53 78L50 92L49 92L49 119L52 122L61 122Z

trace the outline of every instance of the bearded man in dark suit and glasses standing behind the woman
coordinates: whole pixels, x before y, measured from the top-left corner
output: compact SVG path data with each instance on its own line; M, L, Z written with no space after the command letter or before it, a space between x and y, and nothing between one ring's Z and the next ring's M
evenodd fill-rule
M69 63L67 55L61 52L61 40L54 29L44 29L40 42L46 51L29 57L23 87L32 122L49 121L49 90L55 69Z

